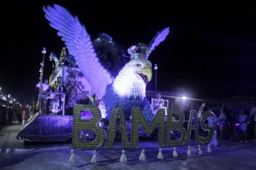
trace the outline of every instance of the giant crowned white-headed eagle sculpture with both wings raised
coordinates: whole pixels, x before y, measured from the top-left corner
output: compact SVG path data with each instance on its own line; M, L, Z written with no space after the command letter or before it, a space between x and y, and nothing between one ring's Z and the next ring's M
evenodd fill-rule
M43 9L50 26L58 30L57 35L62 37L69 53L74 56L84 77L91 84L91 93L101 99L98 108L102 118L109 120L114 106L122 106L125 116L131 115L132 107L139 107L144 118L151 122L154 115L146 98L146 84L152 78L148 57L151 51L165 40L169 28L158 31L149 45L132 45L128 49L131 60L114 77L100 62L90 35L77 16L57 4Z

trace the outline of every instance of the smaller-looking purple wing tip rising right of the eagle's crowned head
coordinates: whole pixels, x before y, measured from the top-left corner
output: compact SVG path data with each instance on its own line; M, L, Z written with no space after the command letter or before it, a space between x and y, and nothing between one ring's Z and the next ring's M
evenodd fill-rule
M163 42L166 38L166 36L169 34L170 28L167 27L161 31L158 31L156 35L154 35L154 38L149 43L148 47L150 49L149 54L154 50L154 47L158 46L161 42ZM146 59L148 59L149 54L146 56Z

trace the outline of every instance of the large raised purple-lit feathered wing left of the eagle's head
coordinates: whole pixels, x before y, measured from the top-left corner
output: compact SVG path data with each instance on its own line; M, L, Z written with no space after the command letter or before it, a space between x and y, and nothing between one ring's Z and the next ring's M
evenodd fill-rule
M43 9L50 26L58 30L57 35L62 37L69 53L74 56L84 77L91 84L91 94L96 94L97 99L102 99L114 77L100 64L84 25L81 25L77 16L72 16L67 9L57 4Z

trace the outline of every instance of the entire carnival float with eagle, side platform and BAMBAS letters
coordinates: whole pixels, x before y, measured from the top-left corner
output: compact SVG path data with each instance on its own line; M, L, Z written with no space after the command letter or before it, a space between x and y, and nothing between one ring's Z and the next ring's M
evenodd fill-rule
M138 136L149 136L158 139L159 147L173 147L189 146L194 130L199 147L211 140L213 130L205 121L212 113L206 112L197 120L197 111L191 110L185 128L182 111L169 111L168 100L160 94L151 103L146 97L146 85L152 79L149 56L165 40L169 28L158 31L148 44L125 49L106 33L92 40L78 17L57 4L43 9L66 47L60 57L50 54L54 71L49 81L43 82L44 60L41 63L38 111L21 128L17 139L73 138L74 148L110 149L116 138L122 140L123 148L136 148ZM45 56L45 49L42 54ZM199 125L207 131L206 136L198 134Z

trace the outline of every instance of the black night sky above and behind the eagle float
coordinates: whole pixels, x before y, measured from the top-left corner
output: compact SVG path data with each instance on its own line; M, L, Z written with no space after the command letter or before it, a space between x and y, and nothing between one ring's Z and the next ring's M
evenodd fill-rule
M78 15L92 38L105 32L125 47L148 43L156 31L169 26L170 35L149 57L159 66L158 89L162 91L183 87L198 98L256 94L255 10L41 1L1 4L0 87L18 101L37 98L42 48L47 48L44 78L48 79L49 54L59 55L64 47L42 11L42 6L53 3ZM148 89L154 90L154 75Z

